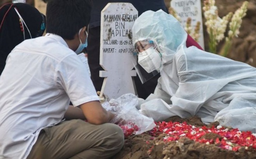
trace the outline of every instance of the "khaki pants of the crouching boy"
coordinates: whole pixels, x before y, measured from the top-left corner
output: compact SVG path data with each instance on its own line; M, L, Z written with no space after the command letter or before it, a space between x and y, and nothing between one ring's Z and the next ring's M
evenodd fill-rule
M115 124L63 121L40 132L27 159L108 159L123 144L123 131Z

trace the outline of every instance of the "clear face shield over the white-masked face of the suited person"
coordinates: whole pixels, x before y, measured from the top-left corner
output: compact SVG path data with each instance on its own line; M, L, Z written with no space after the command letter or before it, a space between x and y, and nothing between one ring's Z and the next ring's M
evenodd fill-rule
M152 40L138 41L135 44L135 51L136 63L133 65L140 80L145 83L160 72L162 56Z

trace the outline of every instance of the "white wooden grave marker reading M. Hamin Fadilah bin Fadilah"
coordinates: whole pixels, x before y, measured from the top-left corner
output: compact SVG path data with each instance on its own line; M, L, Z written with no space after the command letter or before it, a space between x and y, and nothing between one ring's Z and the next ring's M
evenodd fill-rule
M131 3L108 3L101 11L100 25L100 77L105 77L100 91L110 99L126 93L136 94L131 76L133 69L131 28L138 17L138 11Z

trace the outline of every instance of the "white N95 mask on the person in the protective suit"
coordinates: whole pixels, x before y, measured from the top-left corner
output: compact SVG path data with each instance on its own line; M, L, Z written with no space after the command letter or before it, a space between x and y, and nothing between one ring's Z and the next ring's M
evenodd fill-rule
M153 47L150 47L143 52L139 52L138 63L147 73L151 73L154 70L159 71L162 64L161 54Z

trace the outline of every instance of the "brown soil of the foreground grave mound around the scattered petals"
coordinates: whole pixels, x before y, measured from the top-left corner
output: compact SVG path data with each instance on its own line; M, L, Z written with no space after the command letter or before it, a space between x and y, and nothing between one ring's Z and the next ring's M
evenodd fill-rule
M205 125L196 116L187 119L175 116L166 121L187 122L196 127L218 126L218 122ZM165 134L159 134L152 138L148 132L131 136L125 139L125 145L112 159L256 159L256 151L253 148L247 150L242 148L235 152L221 149L214 144L194 142L185 137L180 138L178 142L162 142L163 137ZM218 135L208 133L203 138L215 140Z

